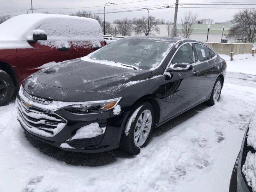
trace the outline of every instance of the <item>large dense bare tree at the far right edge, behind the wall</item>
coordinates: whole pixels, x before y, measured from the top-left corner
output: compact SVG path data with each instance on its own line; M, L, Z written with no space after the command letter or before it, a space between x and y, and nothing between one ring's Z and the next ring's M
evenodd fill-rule
M248 42L256 40L256 9L245 9L234 14L234 26L228 31L227 38L247 38Z

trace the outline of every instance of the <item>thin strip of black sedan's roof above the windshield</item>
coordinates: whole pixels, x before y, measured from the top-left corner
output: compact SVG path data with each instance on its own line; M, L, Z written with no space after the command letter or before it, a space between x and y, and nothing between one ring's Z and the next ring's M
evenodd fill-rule
M168 36L133 36L133 37L126 37L124 39L127 40L151 40L151 41L161 41L161 42L168 42L168 43L177 43L177 42L198 42L192 39L185 39L180 37L168 37ZM202 43L202 42L200 42Z

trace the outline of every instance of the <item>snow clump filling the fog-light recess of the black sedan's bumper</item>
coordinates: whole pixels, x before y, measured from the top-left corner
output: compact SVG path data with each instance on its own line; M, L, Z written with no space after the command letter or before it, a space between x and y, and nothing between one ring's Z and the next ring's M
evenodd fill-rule
M84 139L92 138L104 133L104 130L100 128L98 123L91 123L89 125L83 126L76 131L76 134L70 138L68 141L74 139Z

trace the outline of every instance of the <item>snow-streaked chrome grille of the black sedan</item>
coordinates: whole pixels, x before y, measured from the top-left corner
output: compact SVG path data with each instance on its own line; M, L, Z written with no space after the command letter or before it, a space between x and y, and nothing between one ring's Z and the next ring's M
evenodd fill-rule
M16 99L18 120L27 130L52 137L66 126L67 122L64 118L36 106L28 107L24 102L19 96Z

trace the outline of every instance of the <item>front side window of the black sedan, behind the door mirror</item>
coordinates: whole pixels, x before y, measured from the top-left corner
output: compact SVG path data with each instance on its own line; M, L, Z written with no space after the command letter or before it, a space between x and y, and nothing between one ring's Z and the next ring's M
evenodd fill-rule
M176 63L188 63L193 64L194 63L194 52L193 48L190 44L184 44L182 45L179 50L174 55L174 58L172 59L172 64Z

